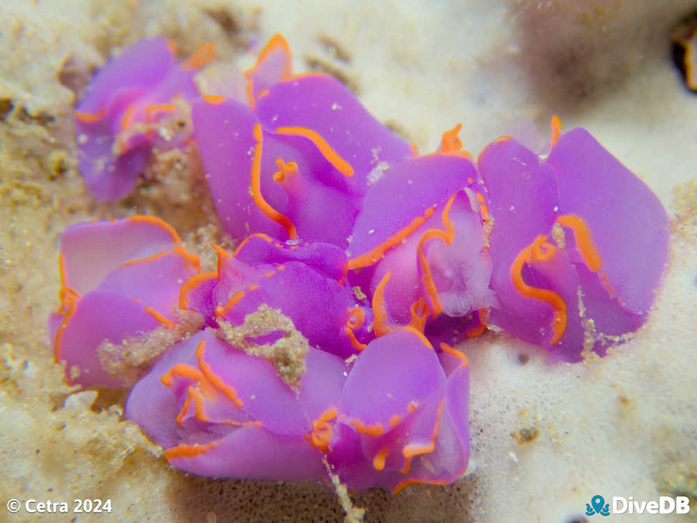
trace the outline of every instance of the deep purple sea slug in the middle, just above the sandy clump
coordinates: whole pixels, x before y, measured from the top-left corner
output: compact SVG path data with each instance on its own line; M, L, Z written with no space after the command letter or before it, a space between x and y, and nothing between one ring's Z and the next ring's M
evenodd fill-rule
M181 309L207 325L242 325L269 306L286 315L310 345L342 358L374 337L372 311L344 283L346 253L332 244L281 244L252 235L234 256L217 248L217 272L195 276L181 290Z

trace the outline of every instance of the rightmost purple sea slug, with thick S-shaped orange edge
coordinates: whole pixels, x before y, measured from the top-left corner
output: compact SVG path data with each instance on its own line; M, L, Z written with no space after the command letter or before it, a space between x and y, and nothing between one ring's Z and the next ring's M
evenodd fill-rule
M554 139L546 159L499 139L478 167L494 223L493 325L547 348L550 361L602 356L643 325L669 221L641 180L580 128Z

